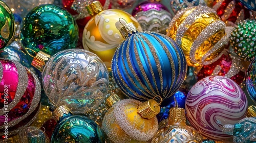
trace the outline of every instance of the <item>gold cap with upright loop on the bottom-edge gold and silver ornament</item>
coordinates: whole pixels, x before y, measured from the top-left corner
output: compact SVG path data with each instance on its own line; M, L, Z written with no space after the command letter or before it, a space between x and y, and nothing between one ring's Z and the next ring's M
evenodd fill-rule
M175 97L174 97L174 100L175 100L175 107L170 108L169 110L168 124L186 126L185 109L178 107L178 103Z

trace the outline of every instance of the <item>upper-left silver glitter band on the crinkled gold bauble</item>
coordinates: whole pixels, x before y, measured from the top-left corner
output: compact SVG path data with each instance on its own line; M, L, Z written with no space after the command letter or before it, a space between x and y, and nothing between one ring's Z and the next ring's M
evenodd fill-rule
M179 25L177 29L176 34L176 42L181 45L181 38L184 36L185 32L188 30L188 28L193 25L197 16L200 16L202 13L215 13L216 12L210 8L205 8L203 6L198 6L197 9L195 9L193 12L191 12L186 19L183 20L183 22Z

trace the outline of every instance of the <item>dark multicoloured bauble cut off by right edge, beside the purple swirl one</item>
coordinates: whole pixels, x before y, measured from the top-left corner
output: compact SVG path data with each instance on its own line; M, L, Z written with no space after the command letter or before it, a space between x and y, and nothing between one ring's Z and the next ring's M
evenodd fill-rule
M251 61L248 69L245 72L245 85L246 89L254 102L256 104L256 58Z

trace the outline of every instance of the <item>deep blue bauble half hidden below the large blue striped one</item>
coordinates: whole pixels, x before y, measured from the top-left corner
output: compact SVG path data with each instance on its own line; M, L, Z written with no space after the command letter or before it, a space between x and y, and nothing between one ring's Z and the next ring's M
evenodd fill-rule
M169 110L172 107L175 107L175 100L177 101L178 107L185 108L186 96L184 92L178 90L172 97L169 97L161 103L160 113L157 114L158 122L161 122L164 119L167 119L169 116Z

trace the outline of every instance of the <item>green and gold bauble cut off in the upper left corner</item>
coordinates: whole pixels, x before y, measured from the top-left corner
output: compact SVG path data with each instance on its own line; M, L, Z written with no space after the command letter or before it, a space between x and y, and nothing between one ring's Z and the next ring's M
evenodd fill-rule
M15 33L14 15L10 8L0 1L0 50L11 43Z

